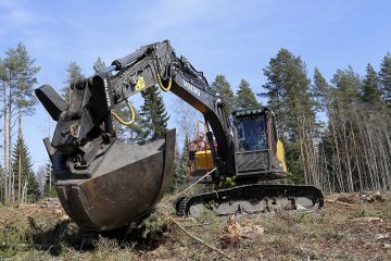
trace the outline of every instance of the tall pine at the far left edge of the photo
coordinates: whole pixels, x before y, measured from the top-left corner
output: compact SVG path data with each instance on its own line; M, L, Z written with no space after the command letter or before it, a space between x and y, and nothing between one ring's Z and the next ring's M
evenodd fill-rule
M2 117L4 128L4 160L12 151L11 145L14 133L14 125L18 123L18 134L22 132L23 116L31 115L35 112L36 97L33 94L34 85L37 84L37 77L40 67L35 65L35 59L31 58L27 48L18 44L15 48L9 48L5 51L4 59L0 59L0 86L1 101L3 102ZM17 117L17 121L15 121ZM4 162L4 169L8 175L4 175L4 197L11 199L14 191L17 191L17 199L21 197L22 178L14 178L15 172L12 166ZM18 173L16 173L17 175ZM15 183L16 182L16 183ZM15 185L16 184L16 185ZM11 188L14 186L13 188ZM15 188L15 189L14 189ZM14 190L13 190L14 189Z

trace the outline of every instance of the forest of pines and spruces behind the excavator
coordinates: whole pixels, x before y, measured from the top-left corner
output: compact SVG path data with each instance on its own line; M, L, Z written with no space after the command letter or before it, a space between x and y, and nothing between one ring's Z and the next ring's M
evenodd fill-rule
M316 185L327 192L389 190L391 186L391 55L379 61L376 72L366 65L358 75L351 66L337 70L330 82L320 70L307 72L300 55L280 49L263 69L266 83L262 94L278 120L279 137L294 184ZM364 65L363 65L364 66ZM94 72L105 67L98 58ZM34 201L55 195L50 163L33 171L31 158L23 138L25 116L34 116L38 87L36 65L24 45L0 55L0 199L2 202ZM261 72L260 72L261 73ZM68 86L84 77L81 67L71 62L65 72L63 97ZM245 79L234 91L222 74L211 87L219 91L228 112L235 108L260 105ZM131 127L117 125L124 141L144 144L163 137L169 119L157 88L142 92L143 104L137 109ZM127 109L118 105L126 117ZM175 114L175 115L174 115ZM171 190L187 182L187 144L194 129L194 112L184 102L172 113L177 119L184 148L177 149ZM39 182L39 183L38 183Z

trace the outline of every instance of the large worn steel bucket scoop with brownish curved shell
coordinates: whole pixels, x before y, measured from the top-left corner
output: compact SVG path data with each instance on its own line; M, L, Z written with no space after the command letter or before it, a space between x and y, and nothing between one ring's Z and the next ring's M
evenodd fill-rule
M93 231L122 227L148 214L165 192L174 162L175 129L144 146L115 142L93 164L88 178L62 178L60 201L79 226Z

